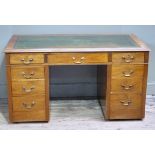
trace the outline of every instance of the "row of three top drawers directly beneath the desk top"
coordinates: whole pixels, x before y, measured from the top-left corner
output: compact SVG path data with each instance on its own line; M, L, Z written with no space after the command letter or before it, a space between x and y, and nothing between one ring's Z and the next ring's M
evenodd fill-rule
M144 52L112 53L112 60L109 60L109 53L52 53L47 54L10 54L9 64L43 64L45 62L53 65L63 64L102 64L112 61L113 63L144 63Z

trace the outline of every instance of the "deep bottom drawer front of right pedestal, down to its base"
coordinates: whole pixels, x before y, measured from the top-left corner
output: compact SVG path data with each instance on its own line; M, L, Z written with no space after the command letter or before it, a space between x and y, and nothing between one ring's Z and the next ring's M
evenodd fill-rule
M115 94L110 97L110 119L141 119L142 99L139 94Z

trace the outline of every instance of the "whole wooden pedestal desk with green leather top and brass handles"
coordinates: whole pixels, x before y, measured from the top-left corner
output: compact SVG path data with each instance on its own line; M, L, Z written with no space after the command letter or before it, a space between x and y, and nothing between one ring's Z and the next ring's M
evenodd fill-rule
M10 122L49 120L53 65L97 65L105 118L144 118L149 51L126 34L12 36L5 49Z

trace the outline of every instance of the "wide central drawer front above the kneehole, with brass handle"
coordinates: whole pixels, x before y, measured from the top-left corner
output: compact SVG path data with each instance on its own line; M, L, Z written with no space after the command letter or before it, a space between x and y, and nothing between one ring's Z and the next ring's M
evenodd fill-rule
M108 62L107 53L55 53L48 55L50 64L102 64Z

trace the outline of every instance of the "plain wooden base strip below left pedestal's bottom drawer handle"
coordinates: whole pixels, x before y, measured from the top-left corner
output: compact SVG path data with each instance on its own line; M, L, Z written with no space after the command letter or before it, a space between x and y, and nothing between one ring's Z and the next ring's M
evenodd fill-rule
M48 121L45 110L35 112L13 112L13 122Z

